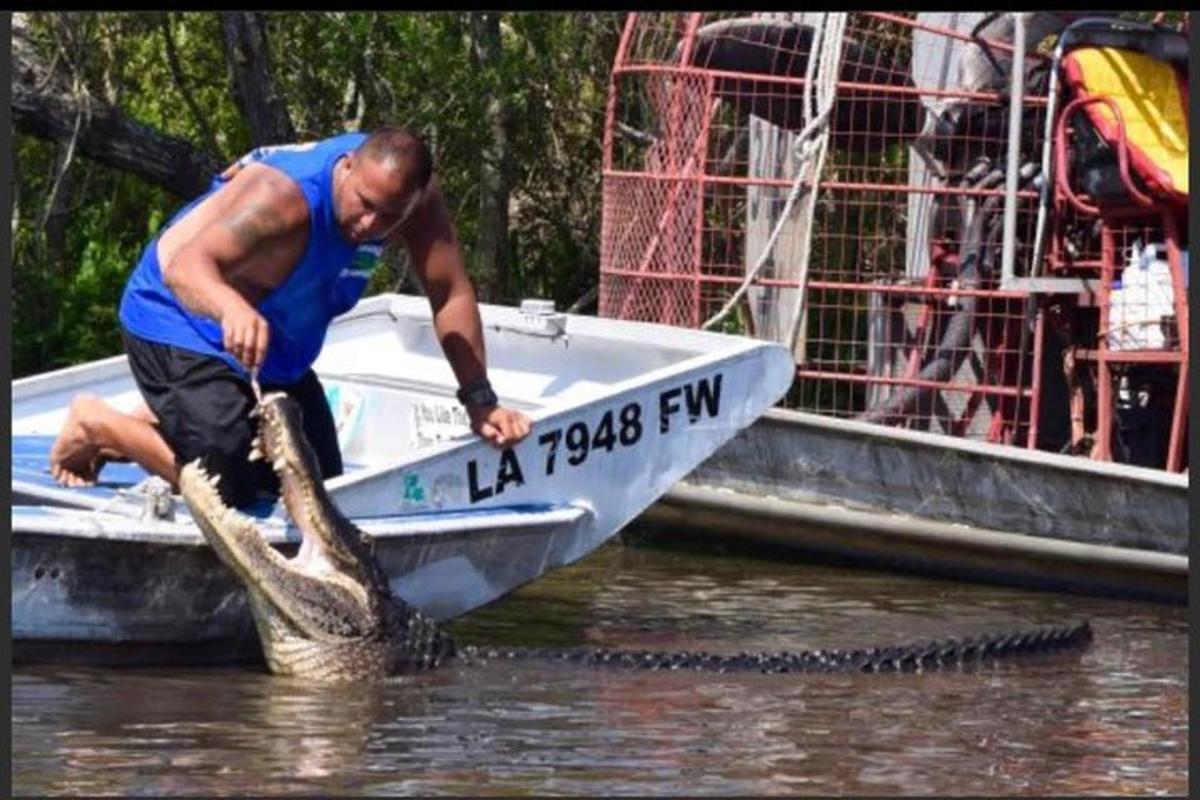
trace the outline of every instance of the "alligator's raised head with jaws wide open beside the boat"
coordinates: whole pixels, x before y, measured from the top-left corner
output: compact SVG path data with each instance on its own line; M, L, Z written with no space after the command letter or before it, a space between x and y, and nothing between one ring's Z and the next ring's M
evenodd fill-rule
M370 539L330 500L296 403L271 393L256 414L251 457L265 458L280 479L301 534L296 555L286 558L251 517L226 506L199 461L182 468L180 489L204 537L246 587L268 666L344 679L437 666L452 654L451 640L391 593Z

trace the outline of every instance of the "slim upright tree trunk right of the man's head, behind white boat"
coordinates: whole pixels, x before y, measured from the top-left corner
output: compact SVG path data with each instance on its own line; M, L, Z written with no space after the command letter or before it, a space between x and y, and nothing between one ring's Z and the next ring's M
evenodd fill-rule
M512 192L512 154L509 146L510 110L500 79L500 14L470 12L472 55L480 73L490 74L485 108L487 142L479 164L479 237L473 260L485 279L487 300L508 300L509 197Z

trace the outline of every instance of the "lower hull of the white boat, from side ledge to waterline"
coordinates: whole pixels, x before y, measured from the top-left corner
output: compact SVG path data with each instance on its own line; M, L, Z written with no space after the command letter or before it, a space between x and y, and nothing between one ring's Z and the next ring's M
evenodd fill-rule
M112 515L91 515L89 533L71 513L16 510L12 634L29 644L16 656L73 643L145 644L161 654L194 645L205 660L257 657L245 588L203 539ZM528 509L472 519L371 521L364 528L374 537L392 590L445 620L560 566L586 516L574 509ZM106 524L108 530L124 524L124 535L103 533ZM268 539L288 557L299 548L294 529L270 530Z

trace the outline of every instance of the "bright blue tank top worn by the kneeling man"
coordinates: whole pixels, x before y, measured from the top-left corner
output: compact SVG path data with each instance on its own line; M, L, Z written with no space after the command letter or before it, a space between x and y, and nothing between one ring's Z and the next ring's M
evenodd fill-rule
M269 164L288 175L308 203L308 243L283 283L257 306L270 325L263 383L290 384L317 360L330 320L349 311L362 296L382 241L354 245L337 227L334 213L334 166L366 139L346 133L323 142L258 148L212 180L209 190L180 209L163 230L229 182L250 163ZM222 347L221 326L184 306L162 281L157 251L160 231L142 252L125 293L120 320L131 333L193 353L214 355L238 372L245 368Z

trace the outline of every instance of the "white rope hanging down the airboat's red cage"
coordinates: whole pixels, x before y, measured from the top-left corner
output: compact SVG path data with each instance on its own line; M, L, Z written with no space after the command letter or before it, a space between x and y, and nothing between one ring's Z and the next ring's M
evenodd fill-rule
M797 161L799 162L796 169L796 180L792 181L792 187L787 194L787 201L784 204L784 210L780 212L779 218L770 231L770 236L767 239L767 243L758 254L758 259L755 261L754 267L746 272L742 284L738 285L737 290L725 306L722 306L716 314L704 321L702 327L706 330L712 329L725 319L738 305L743 295L745 295L745 293L750 289L750 285L758 278L758 273L762 272L763 266L767 264L767 259L769 258L772 249L775 247L775 241L779 239L779 235L784 229L784 224L792 216L792 209L805 188L808 188L806 198L809 199L809 203L804 209L804 213L809 225L811 225L812 212L816 207L815 190L817 180L821 178L821 170L824 168L824 156L829 142L829 118L833 113L833 104L838 95L838 72L841 64L841 44L845 30L846 14L844 13L824 14L820 28L814 30L812 44L809 48L809 59L804 70L803 109L805 124L793 144L793 151L796 152ZM817 67L818 61L820 68ZM814 80L814 78L816 78L816 80ZM814 114L814 86L816 86L816 106L820 109L816 114ZM812 164L812 162L815 162L815 168L811 170L806 169ZM805 187L806 175L811 175L811 179L808 181L808 187ZM800 284L798 287L799 300L797 302L796 314L797 320L800 315L799 305L803 303L805 294L804 285L808 281L810 239L811 236L805 236L802 242L799 264ZM792 327L791 341L794 343L799 327L798 323L793 324Z

